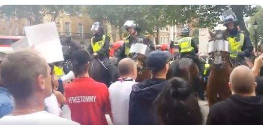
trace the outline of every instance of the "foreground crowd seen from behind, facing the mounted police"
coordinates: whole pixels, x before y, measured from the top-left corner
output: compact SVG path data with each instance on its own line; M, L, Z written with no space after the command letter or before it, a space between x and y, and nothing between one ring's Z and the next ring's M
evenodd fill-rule
M76 78L56 88L53 66L33 48L7 54L1 63L0 124L203 124L204 116L192 86L181 78L166 80L169 53L153 51L147 59L152 79L136 83L134 60L118 63L120 78L109 88L89 77L90 57L85 49L73 53ZM263 55L252 69L234 68L229 87L232 96L215 104L206 123L262 124L263 98L256 96L255 77ZM55 101L54 101L55 100ZM67 104L71 120L62 118L59 105Z

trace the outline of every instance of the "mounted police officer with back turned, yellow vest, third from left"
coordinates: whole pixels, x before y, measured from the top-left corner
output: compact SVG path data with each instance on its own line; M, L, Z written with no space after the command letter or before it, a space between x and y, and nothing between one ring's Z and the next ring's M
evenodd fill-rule
M189 36L190 31L188 28L181 29L182 38L178 41L179 44L179 52L180 58L190 57L193 59L194 63L197 65L199 69L199 77L202 77L203 74L203 66L201 65L201 61L197 57L198 47L196 42Z

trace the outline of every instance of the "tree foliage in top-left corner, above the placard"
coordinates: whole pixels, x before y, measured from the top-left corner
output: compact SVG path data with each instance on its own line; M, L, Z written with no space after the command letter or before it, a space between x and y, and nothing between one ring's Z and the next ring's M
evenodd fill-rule
M0 7L2 18L17 17L26 18L30 25L42 23L42 19L47 14L51 15L51 21L55 21L59 12L67 11L71 14L81 10L81 6L65 5L4 5Z

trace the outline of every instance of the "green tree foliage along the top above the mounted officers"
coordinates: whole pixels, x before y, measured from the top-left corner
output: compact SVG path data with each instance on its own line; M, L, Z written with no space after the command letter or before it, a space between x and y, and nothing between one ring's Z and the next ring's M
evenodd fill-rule
M222 23L220 16L226 9L232 8L240 22L239 28L246 31L244 16L251 16L255 8L251 6L88 6L88 13L95 20L107 20L119 28L122 33L122 25L128 19L133 19L140 24L141 29L154 34L158 44L159 28L166 28L175 24L192 23L196 28L211 28ZM119 35L122 36L122 35Z

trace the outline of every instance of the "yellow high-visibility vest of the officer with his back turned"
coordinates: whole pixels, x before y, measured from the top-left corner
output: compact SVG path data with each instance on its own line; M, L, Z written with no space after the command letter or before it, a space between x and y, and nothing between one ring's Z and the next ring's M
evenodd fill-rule
M179 40L180 53L191 52L194 48L191 45L191 37L183 37Z

